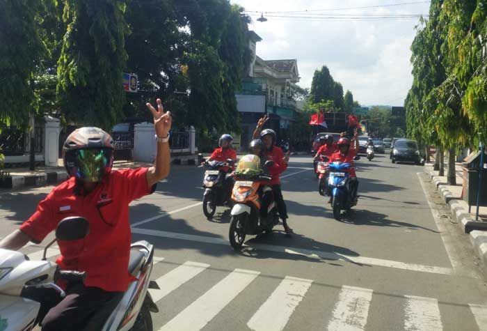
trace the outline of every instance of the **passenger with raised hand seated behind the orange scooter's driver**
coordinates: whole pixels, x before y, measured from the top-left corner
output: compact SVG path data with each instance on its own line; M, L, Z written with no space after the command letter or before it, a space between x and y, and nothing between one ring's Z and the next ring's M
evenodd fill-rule
M284 226L284 230L287 236L291 236L293 230L287 224L287 208L284 198L282 197L282 190L280 186L280 174L287 169L287 163L289 162L289 151L286 153L282 153L282 149L276 146L277 135L274 130L265 129L262 130L262 127L269 121L269 116L265 115L264 117L260 118L257 122L257 127L255 128L253 139L257 139L260 137L262 142L264 143L264 155L267 160L272 160L274 164L269 167L269 174L271 175L271 187L274 195L274 201L276 201L276 205L278 206L279 216L282 220L282 225ZM266 206L262 206L262 208L266 208Z

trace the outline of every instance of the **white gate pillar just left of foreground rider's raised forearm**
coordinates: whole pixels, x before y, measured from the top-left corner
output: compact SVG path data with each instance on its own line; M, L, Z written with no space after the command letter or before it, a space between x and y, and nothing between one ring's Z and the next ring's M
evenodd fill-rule
M134 128L134 161L154 162L156 157L154 123L139 123Z

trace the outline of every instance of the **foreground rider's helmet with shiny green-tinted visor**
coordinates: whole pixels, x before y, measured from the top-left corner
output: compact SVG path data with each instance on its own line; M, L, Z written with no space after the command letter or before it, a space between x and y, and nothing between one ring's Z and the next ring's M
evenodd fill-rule
M113 139L95 127L74 130L63 144L63 163L69 176L98 182L113 166Z

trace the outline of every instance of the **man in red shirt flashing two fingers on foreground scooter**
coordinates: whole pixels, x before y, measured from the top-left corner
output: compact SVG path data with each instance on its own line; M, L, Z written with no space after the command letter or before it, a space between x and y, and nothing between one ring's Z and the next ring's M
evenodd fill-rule
M63 270L86 272L80 283L68 283L61 302L52 302L42 318L42 330L82 330L87 319L97 316L99 330L127 290L131 231L129 203L150 194L170 168L170 112L147 103L154 116L157 155L150 168L111 169L113 139L99 128L80 128L63 145L64 164L70 179L55 187L38 204L35 213L0 242L0 248L20 249L29 241L40 243L65 217L85 217L90 233L83 240L58 241ZM46 305L49 305L46 303ZM102 307L104 309L102 309ZM108 309L107 309L108 307ZM49 311L48 311L49 310ZM106 311L101 316L100 311ZM98 329L97 329L98 330Z

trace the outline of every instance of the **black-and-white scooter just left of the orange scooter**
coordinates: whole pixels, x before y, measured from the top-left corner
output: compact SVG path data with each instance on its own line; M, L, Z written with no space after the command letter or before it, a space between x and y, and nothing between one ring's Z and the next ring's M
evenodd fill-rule
M234 169L234 162L228 159L227 162L205 161L204 164L209 170L203 176L203 213L208 220L215 215L217 206L232 206L230 173Z

